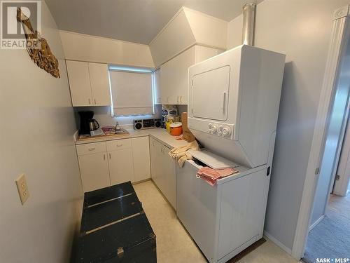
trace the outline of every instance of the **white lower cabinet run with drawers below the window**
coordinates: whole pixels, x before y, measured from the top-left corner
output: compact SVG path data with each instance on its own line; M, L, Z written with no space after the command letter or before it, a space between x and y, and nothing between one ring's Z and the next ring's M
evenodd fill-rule
M151 177L148 136L76 146L83 191Z

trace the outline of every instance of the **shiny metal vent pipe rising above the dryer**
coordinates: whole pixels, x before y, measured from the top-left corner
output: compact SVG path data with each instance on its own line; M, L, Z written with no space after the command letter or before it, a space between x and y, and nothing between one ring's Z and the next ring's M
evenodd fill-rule
M248 3L243 6L243 31L242 43L244 45L254 45L255 27L255 4Z

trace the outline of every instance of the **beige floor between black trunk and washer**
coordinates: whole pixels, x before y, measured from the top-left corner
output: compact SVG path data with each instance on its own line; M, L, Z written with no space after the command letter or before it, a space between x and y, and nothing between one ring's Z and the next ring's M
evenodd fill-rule
M134 188L157 236L158 263L207 262L197 245L183 229L175 211L153 182L135 184ZM239 263L248 262L295 263L297 261L267 239L267 242L239 260Z

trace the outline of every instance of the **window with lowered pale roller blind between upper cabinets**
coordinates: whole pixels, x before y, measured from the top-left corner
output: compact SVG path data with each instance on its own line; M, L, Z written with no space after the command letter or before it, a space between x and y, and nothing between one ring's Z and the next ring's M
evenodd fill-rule
M153 114L151 69L109 66L112 116Z

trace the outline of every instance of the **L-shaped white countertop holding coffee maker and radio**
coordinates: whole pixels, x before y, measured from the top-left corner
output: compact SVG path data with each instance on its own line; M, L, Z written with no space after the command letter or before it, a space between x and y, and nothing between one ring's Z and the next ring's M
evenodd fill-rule
M167 130L163 128L153 128L153 129L146 129L146 130L134 130L134 129L128 129L127 130L130 134L129 135L116 135L116 136L106 136L106 137L92 137L91 139L85 139L85 140L78 140L76 141L76 144L87 144L92 142L106 142L110 140L123 140L128 139L132 137L143 137L143 136L152 136L155 138L155 140L159 140L163 144L165 144L169 148L174 147L181 147L188 144L186 140L176 140L176 136L169 135L167 133Z

